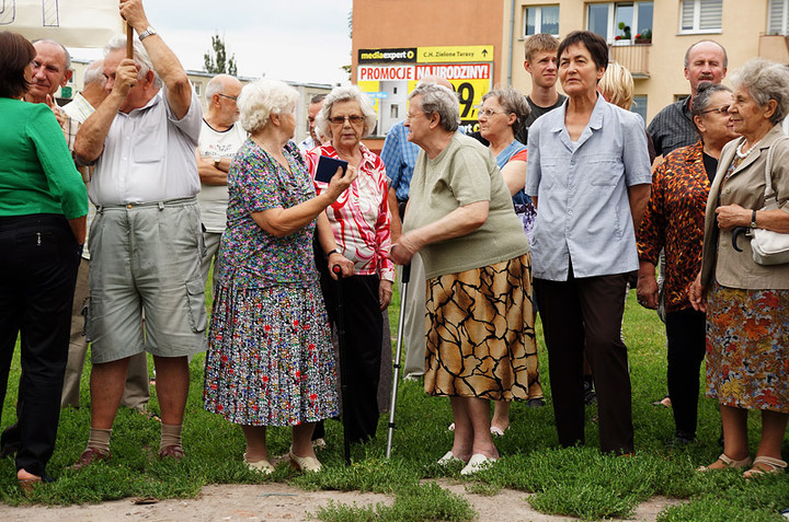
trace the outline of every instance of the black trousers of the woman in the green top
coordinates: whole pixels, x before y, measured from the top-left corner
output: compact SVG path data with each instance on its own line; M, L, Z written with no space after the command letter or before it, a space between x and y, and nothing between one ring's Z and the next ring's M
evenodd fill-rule
M0 218L0 404L20 334L16 469L39 476L55 450L79 260L62 216Z

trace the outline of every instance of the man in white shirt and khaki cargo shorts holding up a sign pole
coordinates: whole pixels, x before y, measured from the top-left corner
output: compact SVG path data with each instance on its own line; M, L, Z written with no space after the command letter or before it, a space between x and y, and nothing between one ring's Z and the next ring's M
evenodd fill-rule
M96 205L85 325L93 343L91 433L76 468L110 457L126 368L142 351L153 356L157 370L159 455L182 457L186 358L206 346L194 152L201 105L141 0L121 0L119 9L139 35L134 60L126 58L124 36L107 44L110 93L75 144L80 161L95 164L89 195Z

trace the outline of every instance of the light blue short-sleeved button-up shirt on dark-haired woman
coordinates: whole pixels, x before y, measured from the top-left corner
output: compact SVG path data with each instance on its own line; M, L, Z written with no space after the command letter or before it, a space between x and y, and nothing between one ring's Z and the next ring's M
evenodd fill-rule
M598 95L573 142L564 127L567 107L529 128L525 190L538 197L533 275L565 281L571 259L576 278L637 270L628 187L652 182L641 117Z

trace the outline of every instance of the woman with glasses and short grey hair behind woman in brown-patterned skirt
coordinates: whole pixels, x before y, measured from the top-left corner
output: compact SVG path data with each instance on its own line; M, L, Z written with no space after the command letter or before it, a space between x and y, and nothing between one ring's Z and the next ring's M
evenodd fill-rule
M524 193L526 185L526 146L515 139L530 113L523 94L517 89L507 88L490 91L482 96L482 106L478 112L480 135L490 143L488 148L495 158L504 183L515 206L515 213L523 222L526 236L531 235L537 217L531 198ZM539 381L539 368L535 361L529 375L529 394L526 404L542 406L542 386ZM491 432L503 436L510 428L510 402L496 402L491 421Z

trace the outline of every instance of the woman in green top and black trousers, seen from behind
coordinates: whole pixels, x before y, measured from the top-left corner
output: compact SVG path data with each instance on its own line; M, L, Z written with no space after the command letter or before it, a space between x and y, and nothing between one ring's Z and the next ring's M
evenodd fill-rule
M35 49L0 32L0 404L18 335L21 448L16 478L30 491L48 482L68 356L88 194L62 130L46 104L21 101Z

